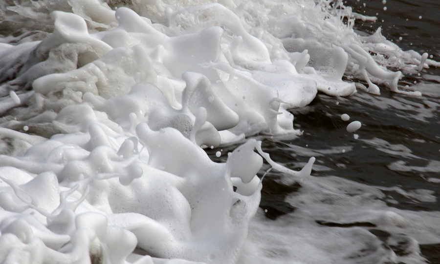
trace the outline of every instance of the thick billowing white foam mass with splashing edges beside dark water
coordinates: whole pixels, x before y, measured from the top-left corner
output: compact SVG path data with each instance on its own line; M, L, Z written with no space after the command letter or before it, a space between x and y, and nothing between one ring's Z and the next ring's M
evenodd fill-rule
M438 65L327 2L110 2L0 4L2 263L236 263L264 160L292 182L315 162L247 137L301 135L288 109L352 95L344 75L418 95L387 66ZM203 150L232 142L225 163Z

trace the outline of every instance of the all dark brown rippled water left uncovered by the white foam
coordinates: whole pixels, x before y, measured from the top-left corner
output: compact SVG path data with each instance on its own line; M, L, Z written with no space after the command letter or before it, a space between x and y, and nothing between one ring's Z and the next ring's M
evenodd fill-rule
M383 4L381 0L350 0L346 4L357 13L378 18L375 22L359 22L357 30L374 33L380 26L382 34L403 50L413 49L420 54L428 52L434 60L440 60L440 1L388 0ZM380 96L362 91L349 98L318 94L307 107L291 110L295 126L304 130L304 134L289 140L263 137L260 140L264 151L270 153L273 160L293 169L302 167L310 156L323 154L317 157L313 176L334 175L372 186L397 186L405 191L430 190L440 201L438 183L426 180L440 179L438 170L390 169L390 164L396 162L424 168L428 161L440 161L440 84L429 81L432 78L426 76L440 76L440 69L423 69L420 76L406 76L400 82L403 86L416 81L424 94L421 98L396 94L381 86ZM362 122L362 127L356 131L357 140L346 131L348 122L340 118L344 113L350 115L350 121ZM231 150L234 148L230 147ZM347 151L342 153L338 151L340 148ZM388 151L381 151L381 148ZM228 147L222 150L227 152ZM223 157L215 157L216 151L210 150L210 156L213 160L222 160ZM263 175L267 168L264 167L260 174ZM269 209L265 214L269 219L294 212L295 208L286 203L285 198L301 187L300 184L283 185L278 178L277 172L269 172L263 180L260 207ZM388 206L412 211L440 211L439 202L409 199L392 190L383 193L386 196L384 201L398 202L387 202ZM384 238L385 233L381 233ZM380 234L377 236L381 237ZM420 245L420 251L430 263L440 263L439 244Z

